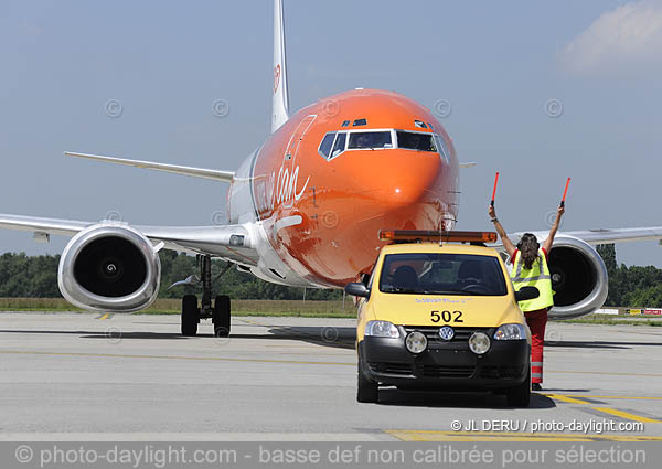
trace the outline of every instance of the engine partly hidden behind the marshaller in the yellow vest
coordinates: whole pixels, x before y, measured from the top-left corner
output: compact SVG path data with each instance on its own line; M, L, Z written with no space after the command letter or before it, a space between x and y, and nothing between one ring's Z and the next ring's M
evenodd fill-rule
M554 308L549 317L573 319L601 308L607 300L605 262L591 245L573 236L558 235L549 253Z

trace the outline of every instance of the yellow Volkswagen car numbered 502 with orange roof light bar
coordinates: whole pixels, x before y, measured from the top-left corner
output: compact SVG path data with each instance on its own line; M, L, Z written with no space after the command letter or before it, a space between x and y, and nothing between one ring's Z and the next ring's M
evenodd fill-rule
M495 233L382 232L381 253L361 297L356 330L359 402L377 402L380 386L491 390L528 406L531 332L498 252ZM430 242L434 241L434 242ZM461 244L469 243L469 244Z

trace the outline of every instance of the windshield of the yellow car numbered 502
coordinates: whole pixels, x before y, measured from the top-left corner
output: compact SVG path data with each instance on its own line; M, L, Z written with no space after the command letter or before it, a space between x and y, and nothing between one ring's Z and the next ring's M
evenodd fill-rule
M380 277L386 294L504 296L496 257L473 254L388 254Z

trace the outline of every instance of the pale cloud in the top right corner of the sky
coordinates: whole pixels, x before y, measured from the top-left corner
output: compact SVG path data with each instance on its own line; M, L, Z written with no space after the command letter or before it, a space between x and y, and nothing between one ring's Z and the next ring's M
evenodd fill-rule
M577 75L658 67L662 54L662 0L626 3L599 17L559 54Z

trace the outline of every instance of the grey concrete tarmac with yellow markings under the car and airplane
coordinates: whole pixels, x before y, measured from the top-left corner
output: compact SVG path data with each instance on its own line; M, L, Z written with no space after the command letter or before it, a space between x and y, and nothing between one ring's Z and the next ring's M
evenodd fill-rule
M530 408L383 388L356 403L355 320L0 313L0 440L662 440L662 328L551 322ZM459 428L459 430L458 430Z

